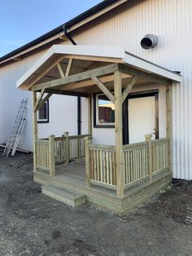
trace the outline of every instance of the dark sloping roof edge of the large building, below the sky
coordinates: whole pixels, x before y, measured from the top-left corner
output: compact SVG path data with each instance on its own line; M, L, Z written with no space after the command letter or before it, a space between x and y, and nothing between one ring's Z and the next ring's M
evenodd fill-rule
M126 2L128 0L104 0L103 2L98 3L98 5L90 8L89 10L81 13L81 15L77 15L72 20L69 20L68 22L61 24L59 27L52 29L50 32L43 34L41 37L33 40L32 42L28 42L24 46L21 46L20 48L16 49L15 51L11 51L7 55L3 55L0 58L0 64L3 62L10 60L11 57L14 57L15 55L20 55L23 51L28 50L28 48L31 48L33 46L37 46L41 42L46 42L46 40L49 40L52 38L52 40L55 40L56 38L59 38L60 36L64 35L64 29L70 29L72 30L72 26L75 26L76 24L80 24L79 26L89 22L90 18L91 20L94 20L99 14L102 15L103 13L110 11L112 8L115 8L119 6L120 4ZM85 21L82 23L82 21ZM76 29L78 26L76 26L74 29ZM52 41L50 40L50 41Z

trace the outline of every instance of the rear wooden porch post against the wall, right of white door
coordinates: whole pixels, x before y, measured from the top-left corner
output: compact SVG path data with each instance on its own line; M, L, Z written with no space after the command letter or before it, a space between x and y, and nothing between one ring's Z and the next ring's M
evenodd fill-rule
M172 86L166 88L166 123L169 139L169 170L172 172Z

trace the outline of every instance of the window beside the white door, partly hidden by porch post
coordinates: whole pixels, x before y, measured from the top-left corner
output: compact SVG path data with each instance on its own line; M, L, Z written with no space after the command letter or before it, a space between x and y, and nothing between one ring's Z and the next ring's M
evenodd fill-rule
M115 124L115 105L106 95L95 96L95 122L94 126L114 126Z

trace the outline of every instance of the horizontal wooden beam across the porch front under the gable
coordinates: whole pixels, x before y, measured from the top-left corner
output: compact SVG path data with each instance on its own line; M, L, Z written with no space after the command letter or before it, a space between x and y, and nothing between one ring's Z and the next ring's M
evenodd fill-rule
M88 71L85 71L82 73L76 73L69 77L55 79L50 82L43 82L41 84L33 86L31 90L41 90L42 88L48 89L48 88L53 88L56 86L64 86L71 82L79 82L82 80L89 79L91 77L102 76L102 75L105 75L108 73L113 73L114 71L117 70L117 67L118 67L117 64L110 64L110 65L107 65L104 67L94 68L94 69L91 69L91 70L88 70Z

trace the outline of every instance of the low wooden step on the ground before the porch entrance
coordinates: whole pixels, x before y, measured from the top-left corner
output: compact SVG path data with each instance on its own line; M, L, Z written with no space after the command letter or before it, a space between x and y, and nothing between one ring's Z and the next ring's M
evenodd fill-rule
M77 207L85 204L86 196L70 188L60 188L54 184L48 184L41 187L42 193L50 196L57 201L62 201L66 205Z

